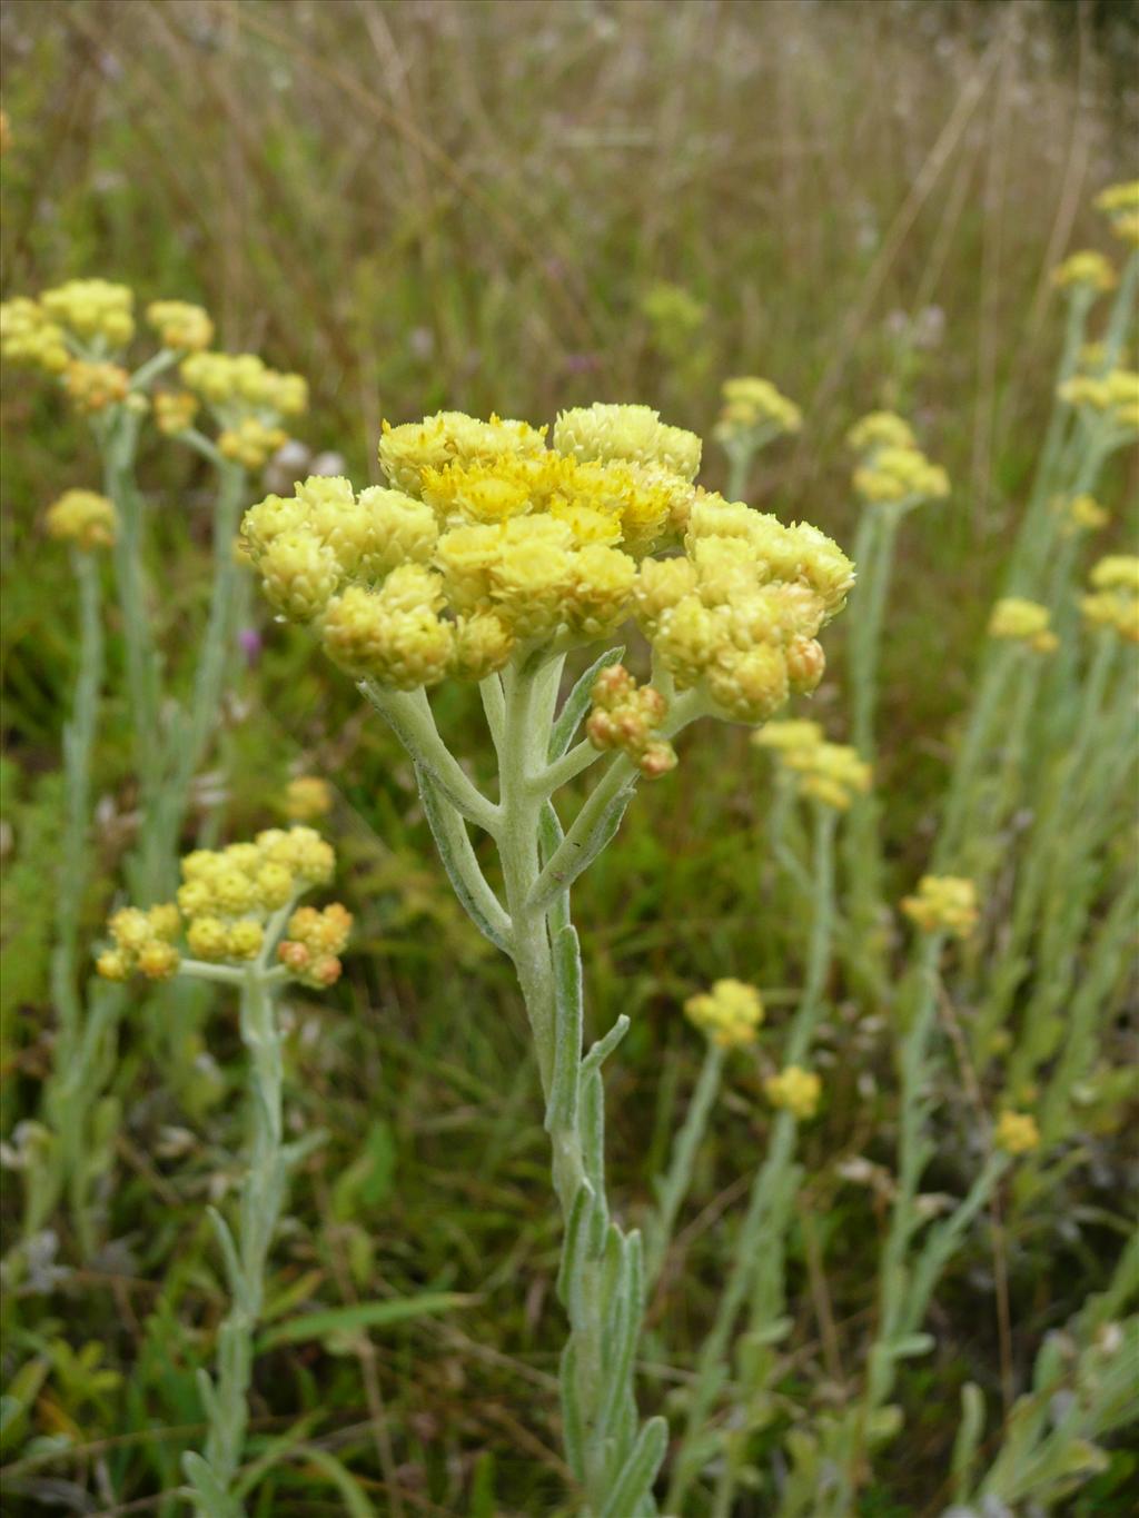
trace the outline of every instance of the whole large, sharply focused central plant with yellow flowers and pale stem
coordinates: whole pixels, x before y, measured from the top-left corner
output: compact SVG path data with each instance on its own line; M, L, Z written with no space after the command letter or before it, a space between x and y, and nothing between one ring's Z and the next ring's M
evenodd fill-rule
M632 1518L656 1510L667 1431L636 1416L642 1246L604 1187L601 1067L629 1022L583 1050L570 890L638 780L671 770L685 727L762 723L814 689L817 635L853 568L816 528L696 486L700 440L648 407L565 411L551 443L525 422L456 411L384 427L384 486L310 478L248 512L241 537L270 604L313 630L407 748L456 893L515 964L565 1225L566 1456L585 1512ZM652 647L647 683L618 663L627 621ZM566 656L597 642L559 701ZM439 732L428 691L448 679L478 686L497 795ZM594 765L563 827L553 798ZM472 829L498 853L501 896Z

